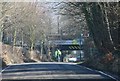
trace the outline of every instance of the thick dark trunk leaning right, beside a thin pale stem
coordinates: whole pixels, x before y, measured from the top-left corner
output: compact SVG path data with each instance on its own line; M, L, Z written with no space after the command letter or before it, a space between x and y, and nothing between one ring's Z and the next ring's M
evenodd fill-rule
M110 32L106 3L84 3L83 11L95 45L101 52L113 51L113 40Z

